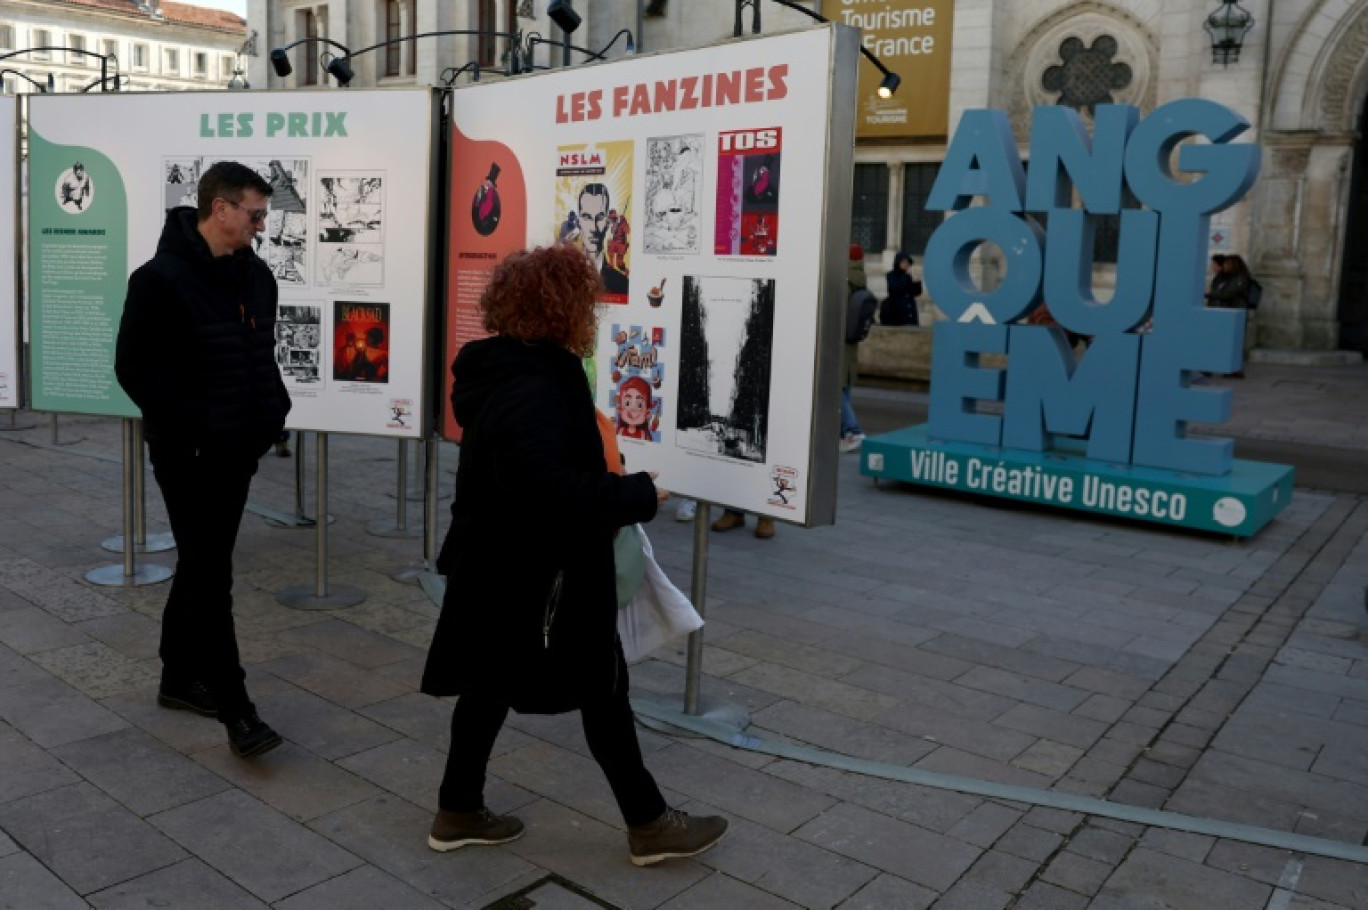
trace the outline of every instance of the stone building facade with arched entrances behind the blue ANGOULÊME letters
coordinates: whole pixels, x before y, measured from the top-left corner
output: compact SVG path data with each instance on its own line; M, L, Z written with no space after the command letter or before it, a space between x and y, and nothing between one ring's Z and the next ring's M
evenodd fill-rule
M856 3L807 5L840 21ZM1040 104L1070 104L1086 115L1099 103L1149 112L1170 100L1207 97L1234 108L1253 126L1242 138L1264 145L1263 172L1244 203L1213 219L1212 235L1218 249L1242 253L1264 285L1259 345L1368 353L1368 153L1361 137L1368 0L1241 0L1254 26L1238 60L1228 64L1213 59L1202 27L1220 5L1219 0L955 0L949 131L967 108L999 108L1008 112L1025 156L1030 111ZM632 29L644 51L702 47L729 38L736 19L735 0L579 0L576 7L584 26L575 40L588 48L603 47L622 27ZM328 29L330 37L361 47L409 27L486 23L557 37L544 8L544 0L250 0L248 19L269 36L269 47L306 27ZM304 15L309 11L313 19ZM808 22L778 4L762 1L761 12L763 31ZM747 4L741 16L747 33L751 14ZM358 68L358 83L432 83L443 68L479 53L477 40L450 41L417 41L412 59L398 60L398 73L378 75L371 63L364 74ZM554 56L546 48L540 53L546 56L539 62ZM393 57L389 63L393 73ZM253 85L265 85L265 55L254 66ZM286 83L300 83L298 75L291 79ZM906 83L900 89L915 90ZM945 141L858 142L852 227L871 252L871 274L899 249L919 253L940 220L925 212L923 203ZM1105 250L1114 239L1100 237L1099 246ZM985 272L992 281L992 263ZM1099 287L1114 281L1112 267L1099 265Z

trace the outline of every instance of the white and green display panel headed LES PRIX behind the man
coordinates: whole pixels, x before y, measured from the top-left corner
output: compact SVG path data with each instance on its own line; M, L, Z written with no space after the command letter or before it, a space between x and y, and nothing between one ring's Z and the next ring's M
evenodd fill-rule
M280 289L289 426L420 438L432 115L428 89L37 99L34 406L131 406L111 389L120 287L167 209L194 205L200 174L234 160L274 190L256 252ZM63 200L75 161L89 192Z

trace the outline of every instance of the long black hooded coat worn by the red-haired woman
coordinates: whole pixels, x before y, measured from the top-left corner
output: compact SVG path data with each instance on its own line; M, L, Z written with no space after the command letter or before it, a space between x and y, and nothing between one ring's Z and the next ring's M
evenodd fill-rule
M486 338L451 374L461 461L423 691L524 713L606 697L627 684L613 535L654 517L655 484L607 472L584 368L564 348Z

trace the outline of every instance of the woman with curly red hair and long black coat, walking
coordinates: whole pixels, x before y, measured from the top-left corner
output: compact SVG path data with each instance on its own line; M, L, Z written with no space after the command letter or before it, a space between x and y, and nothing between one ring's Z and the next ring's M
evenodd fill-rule
M602 279L572 246L513 253L480 300L491 338L451 364L462 427L447 576L423 691L460 695L428 846L517 839L484 806L484 773L509 709L579 710L628 827L636 865L692 857L726 832L665 805L642 761L617 639L613 536L669 497L653 475L609 471L580 359L594 349Z

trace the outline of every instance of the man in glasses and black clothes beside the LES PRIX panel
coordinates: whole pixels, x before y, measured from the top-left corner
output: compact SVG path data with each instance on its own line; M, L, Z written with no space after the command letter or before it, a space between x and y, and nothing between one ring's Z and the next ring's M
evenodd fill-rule
M241 757L280 744L248 698L233 628L248 487L290 411L275 363L275 278L252 252L269 196L242 164L204 172L198 209L167 212L156 256L129 278L115 357L179 547L157 703L218 717Z

